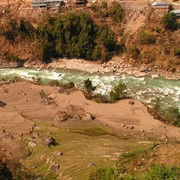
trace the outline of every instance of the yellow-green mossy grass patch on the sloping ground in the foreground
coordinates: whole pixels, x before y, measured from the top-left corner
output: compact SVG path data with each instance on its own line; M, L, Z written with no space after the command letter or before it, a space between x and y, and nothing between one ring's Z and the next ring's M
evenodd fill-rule
M40 134L51 132L58 144L48 148L37 143L31 155L23 160L23 165L31 169L33 174L51 179L55 178L56 173L48 170L50 164L47 164L47 158L60 164L58 171L60 177L85 179L96 168L113 166L120 154L130 149L151 146L142 147L137 143L138 139L125 138L100 126L58 128L45 125L43 130L34 131L37 132ZM29 136L25 139L29 139ZM53 155L55 150L63 152L63 156ZM42 160L41 156L44 156Z

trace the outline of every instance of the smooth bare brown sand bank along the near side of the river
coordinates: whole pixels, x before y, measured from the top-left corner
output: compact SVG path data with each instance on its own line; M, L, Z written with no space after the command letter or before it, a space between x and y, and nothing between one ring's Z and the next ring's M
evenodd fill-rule
M53 94L52 104L42 103L40 92ZM95 116L95 121L126 135L156 136L167 140L180 139L179 128L155 120L139 101L122 100L114 104L98 104L87 100L81 91L59 93L58 87L39 86L27 82L0 85L0 100L7 105L0 108L0 154L14 159L25 158L28 151L21 142L22 133L31 133L36 123L52 122L56 113L68 105L80 106ZM125 127L123 127L123 125ZM134 129L130 129L131 127ZM16 155L15 155L16 154Z

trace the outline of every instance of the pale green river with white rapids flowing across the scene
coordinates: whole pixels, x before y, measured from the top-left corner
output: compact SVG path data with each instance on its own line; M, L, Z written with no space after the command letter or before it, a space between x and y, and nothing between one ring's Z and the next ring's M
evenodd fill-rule
M180 81L166 80L164 78L152 79L150 77L136 78L129 75L118 76L115 74L92 75L85 72L53 69L0 69L0 80L9 81L20 77L26 81L40 80L42 84L48 84L52 80L66 84L74 82L77 88L83 88L84 80L90 79L97 86L95 93L108 95L111 89L119 82L127 86L127 95L141 100L146 105L153 105L157 98L164 107L174 106L180 110Z

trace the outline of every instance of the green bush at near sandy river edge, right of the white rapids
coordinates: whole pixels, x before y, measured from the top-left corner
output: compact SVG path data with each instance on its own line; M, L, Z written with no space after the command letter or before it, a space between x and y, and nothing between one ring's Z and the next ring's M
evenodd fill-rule
M113 103L117 100L120 100L126 96L125 93L126 85L124 83L119 83L109 94L109 102Z

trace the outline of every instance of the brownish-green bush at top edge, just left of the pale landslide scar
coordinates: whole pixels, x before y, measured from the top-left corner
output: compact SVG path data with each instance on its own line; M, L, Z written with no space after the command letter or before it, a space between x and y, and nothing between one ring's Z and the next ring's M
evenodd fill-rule
M121 5L117 2L113 4L113 6L108 10L109 17L115 22L121 22L124 18L124 10Z

